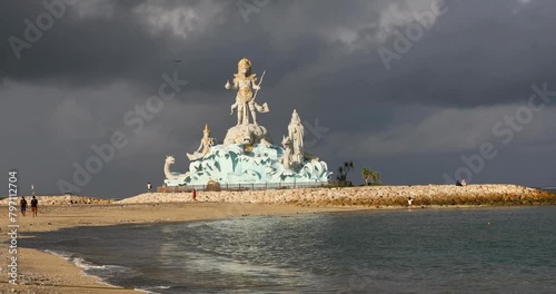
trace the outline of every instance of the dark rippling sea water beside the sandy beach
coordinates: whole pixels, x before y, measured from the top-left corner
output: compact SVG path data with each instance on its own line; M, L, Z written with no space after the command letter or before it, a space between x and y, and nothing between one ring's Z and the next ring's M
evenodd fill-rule
M26 243L152 293L556 292L556 206L78 227Z

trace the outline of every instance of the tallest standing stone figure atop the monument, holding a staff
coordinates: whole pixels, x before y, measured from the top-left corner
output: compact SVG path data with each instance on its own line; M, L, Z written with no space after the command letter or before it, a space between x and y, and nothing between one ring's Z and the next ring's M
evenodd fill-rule
M262 74L264 77L265 74ZM259 112L268 112L268 105L265 102L264 105L258 105L255 101L257 97L257 91L260 89L260 82L257 85L256 74L251 74L251 61L247 58L244 58L238 63L238 74L234 75L234 84L230 84L229 80L226 81L224 86L226 89L235 89L238 90L236 96L236 102L231 105L231 114L234 115L234 110L238 109L238 125L249 125L249 115L247 114L247 108L251 112L252 122L257 125L257 111ZM262 81L262 77L260 78ZM252 89L256 90L255 95L252 94Z

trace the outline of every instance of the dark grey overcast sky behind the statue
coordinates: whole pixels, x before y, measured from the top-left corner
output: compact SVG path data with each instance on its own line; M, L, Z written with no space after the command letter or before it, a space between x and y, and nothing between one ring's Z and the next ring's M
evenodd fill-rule
M186 171L205 124L219 140L236 124L224 84L242 57L267 70L274 140L297 109L307 151L354 160L356 184L365 166L393 185L556 184L555 1L72 2L0 2L0 164L22 194L132 196L167 155ZM155 104L161 85L175 97Z

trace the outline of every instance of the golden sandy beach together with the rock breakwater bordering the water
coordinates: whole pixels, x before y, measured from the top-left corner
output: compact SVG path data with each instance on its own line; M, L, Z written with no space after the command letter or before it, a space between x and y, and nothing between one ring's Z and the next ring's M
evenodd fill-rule
M18 224L20 225L18 231L18 274L21 277L18 278L18 282L24 284L13 286L6 281L0 284L0 292L13 290L13 293L75 293L76 288L79 288L80 293L143 293L138 290L107 285L99 277L87 275L85 268L63 256L46 252L48 248L44 251L26 248L24 238L32 237L36 232L52 232L79 226L217 220L256 215L403 210L408 209L406 203L408 194L415 199L413 210L423 208L518 208L556 204L556 194L522 186L473 185L471 188L468 187L430 185L244 193L202 192L199 193L198 202L195 203L190 198L190 194L156 193L141 194L119 202L71 196L72 199L87 199L78 202L80 204L77 205L68 205L66 198L60 196L44 198L44 200L49 199L47 202L41 202L39 198L38 217L30 215L22 217L18 213ZM423 194L423 190L428 192L428 195ZM454 190L457 194L450 194ZM477 190L488 192L493 197L473 195ZM220 199L211 202L216 196L220 196ZM480 200L476 202L478 197ZM427 199L435 202L426 203ZM467 204L469 199L475 203ZM436 204L436 200L440 200L440 204ZM459 204L460 202L461 204ZM2 206L7 209L7 206ZM2 228L7 228L8 220L8 217L0 218ZM7 234L2 234L0 241L4 246L9 246ZM1 272L8 276L8 268L2 266L9 264L8 251L1 251L0 257L2 259Z

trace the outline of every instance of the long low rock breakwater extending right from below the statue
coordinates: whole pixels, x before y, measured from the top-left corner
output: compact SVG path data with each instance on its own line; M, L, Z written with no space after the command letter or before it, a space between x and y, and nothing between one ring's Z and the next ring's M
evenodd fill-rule
M199 202L278 203L308 206L414 206L556 204L556 194L517 185L420 185L349 188L199 192ZM141 194L118 203L192 202L191 193Z

